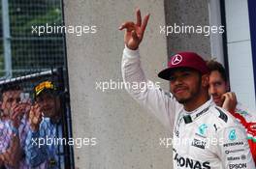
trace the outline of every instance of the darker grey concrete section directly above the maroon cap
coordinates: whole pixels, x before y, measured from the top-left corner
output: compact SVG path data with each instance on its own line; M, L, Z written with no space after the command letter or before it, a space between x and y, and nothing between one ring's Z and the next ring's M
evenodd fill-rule
M168 25L208 26L209 13L206 0L165 0ZM193 51L210 58L209 36L203 34L173 34L168 37L168 54L177 51Z

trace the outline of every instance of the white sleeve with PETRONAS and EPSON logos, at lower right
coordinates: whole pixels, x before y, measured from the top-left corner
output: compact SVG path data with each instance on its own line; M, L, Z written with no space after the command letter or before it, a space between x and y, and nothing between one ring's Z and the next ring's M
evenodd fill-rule
M217 155L224 168L255 168L243 127L226 127L217 132Z

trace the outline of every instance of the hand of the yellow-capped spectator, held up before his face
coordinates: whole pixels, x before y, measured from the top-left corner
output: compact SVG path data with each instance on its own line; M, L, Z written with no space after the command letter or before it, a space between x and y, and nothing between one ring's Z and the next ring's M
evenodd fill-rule
M31 106L29 112L29 124L33 131L38 131L40 123L42 122L42 110L39 104Z

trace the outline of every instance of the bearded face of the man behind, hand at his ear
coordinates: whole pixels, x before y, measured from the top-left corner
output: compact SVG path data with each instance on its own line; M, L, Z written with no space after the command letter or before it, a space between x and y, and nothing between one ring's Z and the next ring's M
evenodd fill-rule
M222 106L223 99L221 98L223 94L228 92L229 85L221 77L218 70L213 70L209 74L209 88L208 93L212 96L212 99L218 106Z

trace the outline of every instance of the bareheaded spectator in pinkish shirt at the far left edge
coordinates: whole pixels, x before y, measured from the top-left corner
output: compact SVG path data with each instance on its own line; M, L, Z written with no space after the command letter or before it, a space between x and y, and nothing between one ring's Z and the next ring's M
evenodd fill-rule
M29 129L26 113L30 103L20 99L21 93L21 87L15 84L1 88L0 164L7 169L28 168L24 146Z

